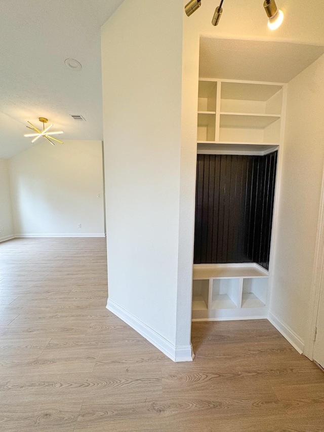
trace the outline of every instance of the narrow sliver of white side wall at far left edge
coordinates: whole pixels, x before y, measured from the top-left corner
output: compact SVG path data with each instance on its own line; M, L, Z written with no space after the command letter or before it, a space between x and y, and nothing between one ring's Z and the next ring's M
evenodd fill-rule
M0 241L13 235L8 160L0 159Z

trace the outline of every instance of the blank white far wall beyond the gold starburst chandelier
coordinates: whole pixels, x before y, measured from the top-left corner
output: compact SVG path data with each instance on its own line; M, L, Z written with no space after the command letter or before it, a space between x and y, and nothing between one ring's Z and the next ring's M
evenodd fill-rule
M9 169L15 234L104 235L101 141L39 142Z

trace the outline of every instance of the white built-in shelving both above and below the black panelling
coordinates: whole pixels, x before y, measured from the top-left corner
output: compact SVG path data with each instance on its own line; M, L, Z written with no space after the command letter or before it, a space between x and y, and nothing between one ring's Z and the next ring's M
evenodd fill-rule
M198 153L260 154L282 140L284 86L199 78ZM269 273L256 263L193 266L192 319L267 317Z

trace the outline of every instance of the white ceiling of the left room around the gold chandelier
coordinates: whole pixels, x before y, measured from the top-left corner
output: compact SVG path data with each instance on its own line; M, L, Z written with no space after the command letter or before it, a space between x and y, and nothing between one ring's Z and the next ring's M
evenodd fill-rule
M38 117L65 139L102 140L100 27L123 0L11 0L0 14L0 158L31 147ZM74 58L83 68L68 69ZM81 114L86 122L69 114ZM29 131L31 132L31 131ZM64 141L64 139L63 139Z

